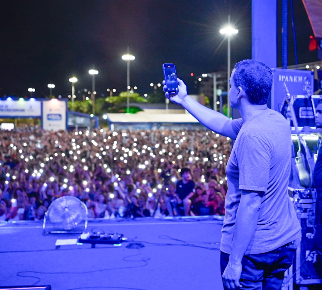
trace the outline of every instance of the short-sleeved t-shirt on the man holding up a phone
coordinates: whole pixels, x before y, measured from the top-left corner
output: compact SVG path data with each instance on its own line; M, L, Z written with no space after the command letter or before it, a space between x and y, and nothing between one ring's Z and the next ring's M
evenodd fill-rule
M242 119L232 122L238 135L226 166L228 191L220 249L230 254L242 190L262 191L256 230L245 254L266 253L301 237L287 191L291 168L289 124L271 109L244 124Z

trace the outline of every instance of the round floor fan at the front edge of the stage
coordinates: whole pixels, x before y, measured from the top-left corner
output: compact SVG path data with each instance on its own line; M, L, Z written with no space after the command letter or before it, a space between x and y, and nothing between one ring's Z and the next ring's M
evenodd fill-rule
M87 228L87 207L74 196L54 200L43 220L43 230L49 233L82 233Z

